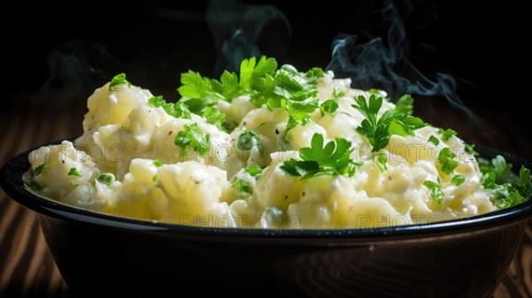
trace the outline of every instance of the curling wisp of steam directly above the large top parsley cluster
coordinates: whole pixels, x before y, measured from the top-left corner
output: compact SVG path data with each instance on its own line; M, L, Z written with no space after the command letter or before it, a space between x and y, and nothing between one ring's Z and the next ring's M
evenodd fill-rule
M270 38L284 41L268 41L278 48L286 47L292 35L286 16L271 5L213 0L207 6L207 24L215 37L215 75L222 74L223 70L238 71L243 59L260 58L259 43L265 32L272 31Z

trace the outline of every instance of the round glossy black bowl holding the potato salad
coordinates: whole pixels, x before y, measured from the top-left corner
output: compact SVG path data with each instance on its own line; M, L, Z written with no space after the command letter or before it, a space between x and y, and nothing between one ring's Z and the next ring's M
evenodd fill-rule
M530 163L501 154L514 169ZM269 297L489 297L520 245L532 200L441 223L352 230L192 227L109 216L27 191L27 153L8 161L4 191L35 210L80 297L230 294Z

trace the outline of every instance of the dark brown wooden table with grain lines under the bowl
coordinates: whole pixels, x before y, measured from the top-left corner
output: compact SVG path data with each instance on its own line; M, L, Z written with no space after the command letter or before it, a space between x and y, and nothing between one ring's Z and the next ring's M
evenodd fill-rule
M82 133L82 115L86 111L83 106L51 106L45 102L36 103L29 110L27 106L11 106L0 110L0 164L36 145ZM441 109L438 111L442 113ZM530 158L532 151L528 135L512 126L512 115L484 112L482 116L496 119L500 129L510 131L498 141L486 145ZM464 123L457 123L455 125L466 127ZM474 133L460 136L471 143L486 143L482 143L481 138ZM0 189L0 216L0 297L71 297L44 242L33 211L21 207ZM519 251L494 297L531 296L532 221L529 221Z

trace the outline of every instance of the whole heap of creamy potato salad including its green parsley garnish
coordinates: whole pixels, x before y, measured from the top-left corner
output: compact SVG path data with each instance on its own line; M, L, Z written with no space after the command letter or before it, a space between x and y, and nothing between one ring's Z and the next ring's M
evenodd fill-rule
M479 159L413 116L410 95L392 103L332 71L251 58L219 79L184 73L178 92L116 75L88 98L81 137L30 153L28 188L113 216L264 229L433 223L530 194L528 169Z

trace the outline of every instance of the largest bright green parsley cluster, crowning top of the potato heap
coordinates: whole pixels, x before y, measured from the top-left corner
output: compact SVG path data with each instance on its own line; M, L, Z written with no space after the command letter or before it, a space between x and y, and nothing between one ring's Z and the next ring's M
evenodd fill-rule
M213 111L208 112L207 109L217 106L220 100L231 102L233 98L247 94L255 106L266 105L270 110L278 107L286 109L288 131L298 124L310 122L310 113L319 107L316 82L323 75L323 70L315 67L303 77L293 67L278 69L276 59L262 56L257 60L252 57L241 62L239 75L226 71L219 80L192 70L184 73L178 91L183 97L180 101L192 113L204 116L207 122L217 127L222 127L223 114L213 116Z

